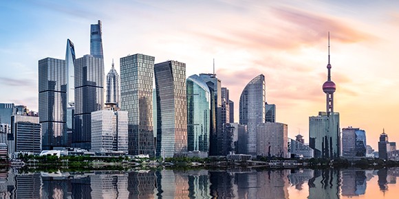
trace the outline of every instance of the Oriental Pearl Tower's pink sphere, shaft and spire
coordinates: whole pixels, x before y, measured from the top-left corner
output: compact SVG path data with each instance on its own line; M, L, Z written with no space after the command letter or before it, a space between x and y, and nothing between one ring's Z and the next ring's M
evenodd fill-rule
M326 105L327 105L327 116L334 113L334 92L336 90L336 85L331 80L331 65L330 65L330 32L328 32L328 65L327 65L328 75L327 81L323 84L323 92L327 95Z

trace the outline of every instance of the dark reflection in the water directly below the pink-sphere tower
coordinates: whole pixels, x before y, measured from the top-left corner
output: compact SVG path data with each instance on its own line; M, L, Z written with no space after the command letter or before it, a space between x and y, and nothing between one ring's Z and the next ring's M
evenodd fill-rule
M315 169L314 177L308 182L308 198L340 198L340 185L339 170Z

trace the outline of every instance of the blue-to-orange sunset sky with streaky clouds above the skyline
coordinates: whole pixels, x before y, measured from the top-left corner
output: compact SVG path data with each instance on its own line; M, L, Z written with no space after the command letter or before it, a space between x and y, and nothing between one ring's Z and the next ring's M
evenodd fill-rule
M0 4L0 102L38 109L38 60L89 54L90 24L103 22L105 73L112 58L155 56L211 73L230 89L238 121L244 86L263 73L277 121L308 142L309 116L325 111L327 34L334 110L341 128L382 128L399 142L399 1L4 1Z

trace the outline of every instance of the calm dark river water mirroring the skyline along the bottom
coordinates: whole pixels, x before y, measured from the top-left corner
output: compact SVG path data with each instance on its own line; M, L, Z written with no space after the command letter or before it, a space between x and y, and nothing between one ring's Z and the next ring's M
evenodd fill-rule
M288 188L295 187L300 193L304 183L308 183L308 198L369 197L366 185L374 176L385 192L389 184L396 184L399 168L51 173L0 169L0 198L290 198Z

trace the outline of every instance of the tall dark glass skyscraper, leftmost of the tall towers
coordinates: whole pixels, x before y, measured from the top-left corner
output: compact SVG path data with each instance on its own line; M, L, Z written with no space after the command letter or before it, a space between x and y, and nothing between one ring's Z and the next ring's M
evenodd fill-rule
M39 60L39 121L43 150L67 146L67 80L65 60Z

